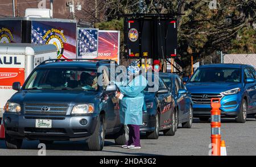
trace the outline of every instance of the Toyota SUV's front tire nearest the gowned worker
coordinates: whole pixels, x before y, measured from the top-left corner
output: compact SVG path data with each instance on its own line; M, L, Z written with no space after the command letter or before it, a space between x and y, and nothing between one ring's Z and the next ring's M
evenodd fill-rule
M96 128L92 136L88 139L89 151L101 151L104 147L105 140L105 120L104 116L100 115L97 120Z

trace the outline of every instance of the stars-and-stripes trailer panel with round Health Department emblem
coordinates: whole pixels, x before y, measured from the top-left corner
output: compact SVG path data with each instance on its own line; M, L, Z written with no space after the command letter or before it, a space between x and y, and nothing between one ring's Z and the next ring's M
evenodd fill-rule
M32 44L53 44L57 59L76 58L76 23L32 21Z

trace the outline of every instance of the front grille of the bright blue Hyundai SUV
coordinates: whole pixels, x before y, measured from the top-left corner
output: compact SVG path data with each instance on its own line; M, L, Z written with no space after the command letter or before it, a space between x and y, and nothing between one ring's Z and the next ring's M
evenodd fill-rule
M222 98L221 94L204 94L204 93L192 93L192 101L199 105L210 105L210 99L212 98Z

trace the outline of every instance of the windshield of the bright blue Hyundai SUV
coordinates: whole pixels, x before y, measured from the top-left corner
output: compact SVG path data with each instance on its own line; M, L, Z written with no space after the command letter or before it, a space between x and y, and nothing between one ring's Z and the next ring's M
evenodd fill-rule
M241 69L200 68L189 82L241 82Z

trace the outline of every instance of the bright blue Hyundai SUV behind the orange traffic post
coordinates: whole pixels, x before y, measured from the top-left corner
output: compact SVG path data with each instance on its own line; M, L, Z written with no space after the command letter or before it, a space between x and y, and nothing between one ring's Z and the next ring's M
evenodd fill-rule
M183 78L192 95L193 116L210 117L210 99L221 99L221 116L245 123L247 115L256 114L256 72L243 64L200 66L191 78Z

